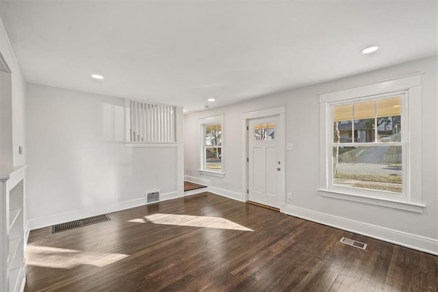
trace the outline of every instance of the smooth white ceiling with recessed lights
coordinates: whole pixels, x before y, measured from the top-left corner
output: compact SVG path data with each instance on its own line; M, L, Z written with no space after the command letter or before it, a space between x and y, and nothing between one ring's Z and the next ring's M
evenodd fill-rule
M437 1L2 0L0 17L27 82L185 112L437 54Z

